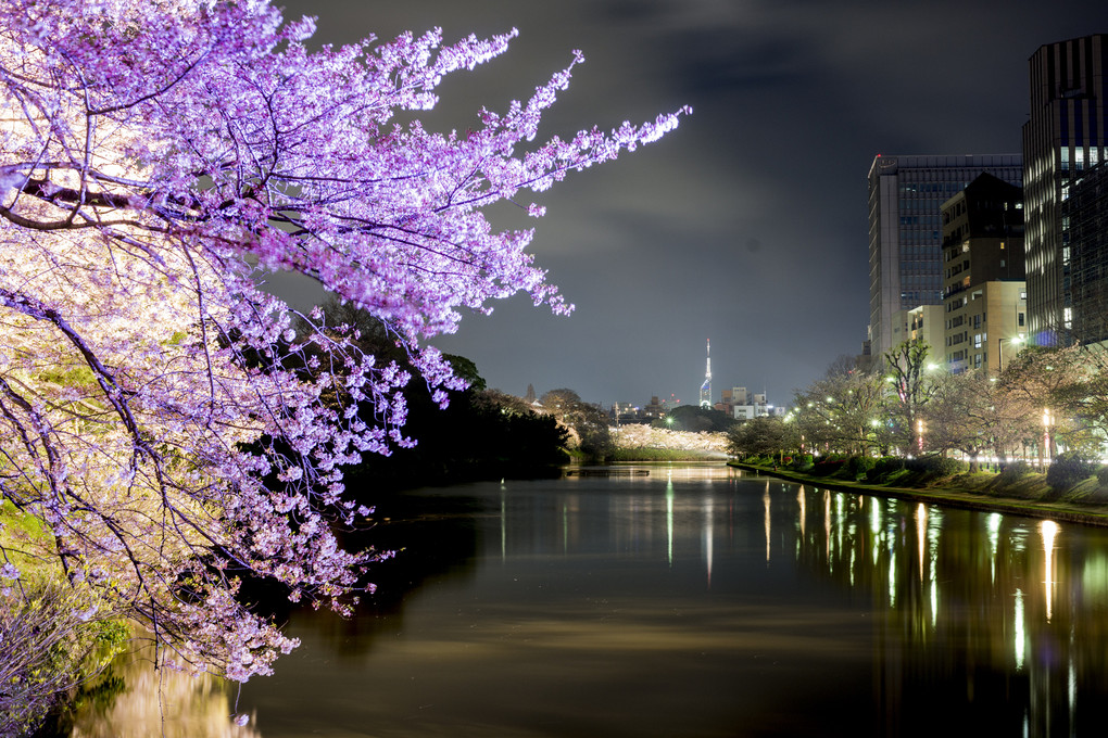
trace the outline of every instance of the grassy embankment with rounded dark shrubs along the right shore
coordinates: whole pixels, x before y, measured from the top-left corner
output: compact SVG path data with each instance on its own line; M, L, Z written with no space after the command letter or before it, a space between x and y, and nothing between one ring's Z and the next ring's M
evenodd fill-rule
M944 459L945 461L946 459ZM882 459L880 461L885 461ZM780 477L790 481L879 497L988 510L1033 518L1108 527L1108 485L1096 476L1070 479L1051 486L1046 474L1013 464L1005 471L953 470L951 465L913 465L842 461L804 467L781 466L771 458L729 461L730 466ZM864 467L869 468L864 468ZM822 467L822 468L821 468ZM914 468L913 468L914 467ZM942 468L946 467L946 468Z

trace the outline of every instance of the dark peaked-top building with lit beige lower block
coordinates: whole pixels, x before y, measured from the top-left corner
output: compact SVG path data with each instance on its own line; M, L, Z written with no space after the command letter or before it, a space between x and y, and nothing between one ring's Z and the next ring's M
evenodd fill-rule
M1027 334L1023 193L983 174L943 204L945 336L951 370L994 376Z

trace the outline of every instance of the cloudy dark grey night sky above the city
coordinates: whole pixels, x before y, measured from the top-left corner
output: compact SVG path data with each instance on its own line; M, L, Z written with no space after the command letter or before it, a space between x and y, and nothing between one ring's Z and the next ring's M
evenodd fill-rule
M491 387L570 387L586 401L695 404L711 340L720 389L788 405L869 318L866 175L876 154L1020 152L1027 59L1108 32L1098 1L299 0L320 42L443 29L448 42L520 30L512 49L440 87L429 128L476 125L581 49L546 118L568 136L688 104L656 144L535 199L532 243L570 318L525 298L435 342ZM541 134L542 136L542 134ZM522 199L527 200L524 196ZM521 225L491 214L493 225ZM310 290L276 283L294 303Z

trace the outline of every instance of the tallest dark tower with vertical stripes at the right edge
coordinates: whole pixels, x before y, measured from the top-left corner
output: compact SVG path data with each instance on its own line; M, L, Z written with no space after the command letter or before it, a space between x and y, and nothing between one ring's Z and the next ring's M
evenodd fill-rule
M1074 180L1105 160L1108 115L1105 72L1108 35L1098 33L1049 43L1029 60L1030 115L1024 124L1027 166L1027 311L1030 340L1067 343L1075 303L1068 214Z

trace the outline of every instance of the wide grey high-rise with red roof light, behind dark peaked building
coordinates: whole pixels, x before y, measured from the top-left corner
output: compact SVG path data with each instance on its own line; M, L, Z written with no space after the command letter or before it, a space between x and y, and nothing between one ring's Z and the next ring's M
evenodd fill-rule
M1023 185L1019 154L884 156L870 167L870 345L895 345L894 313L943 302L941 206L987 171Z

